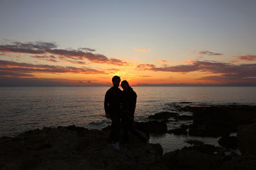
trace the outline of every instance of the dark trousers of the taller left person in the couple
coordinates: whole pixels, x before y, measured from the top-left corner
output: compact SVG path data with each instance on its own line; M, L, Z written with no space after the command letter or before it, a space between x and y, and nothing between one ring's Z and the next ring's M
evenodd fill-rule
M109 134L108 143L116 143L118 141L118 136L120 132L120 118L113 117L111 118L112 124L111 124L111 131Z

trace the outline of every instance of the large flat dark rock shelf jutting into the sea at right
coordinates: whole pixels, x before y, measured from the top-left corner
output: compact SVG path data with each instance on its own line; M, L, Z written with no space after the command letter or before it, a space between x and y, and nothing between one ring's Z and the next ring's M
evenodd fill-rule
M218 127L229 133L236 132L239 125L256 121L256 106L187 106L185 110L193 112L195 127Z

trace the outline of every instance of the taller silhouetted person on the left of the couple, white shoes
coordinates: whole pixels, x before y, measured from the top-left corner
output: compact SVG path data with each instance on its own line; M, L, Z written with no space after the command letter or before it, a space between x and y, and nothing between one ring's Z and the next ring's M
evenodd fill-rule
M108 146L113 146L116 150L120 150L118 143L118 134L120 132L120 112L121 112L121 101L122 101L122 90L120 90L120 77L113 76L112 82L113 87L111 87L105 95L104 109L106 113L106 118L111 118L111 132L109 134L109 144Z

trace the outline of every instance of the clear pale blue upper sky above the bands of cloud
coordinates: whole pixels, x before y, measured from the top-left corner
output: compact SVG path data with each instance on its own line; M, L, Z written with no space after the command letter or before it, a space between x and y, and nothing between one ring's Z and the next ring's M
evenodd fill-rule
M0 45L54 42L61 49L92 48L109 58L156 66L157 60L176 66L230 62L240 55L254 64L255 8L253 0L1 0ZM198 57L200 52L221 57Z

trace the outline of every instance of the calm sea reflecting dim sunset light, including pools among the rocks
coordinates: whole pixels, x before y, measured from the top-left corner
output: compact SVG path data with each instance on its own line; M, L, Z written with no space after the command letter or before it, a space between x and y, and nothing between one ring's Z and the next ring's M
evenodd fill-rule
M109 87L0 87L0 137L42 127L65 125L102 129L104 95ZM138 95L136 121L172 109L172 104L256 105L256 87L133 87ZM181 113L184 114L184 113ZM185 113L186 114L186 113ZM177 123L168 125L178 127ZM179 148L187 136L152 136L166 150ZM161 141L162 140L162 141ZM209 138L203 141L212 143ZM172 146L170 146L172 145Z

